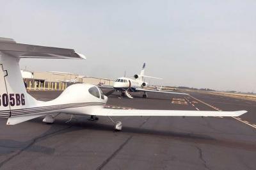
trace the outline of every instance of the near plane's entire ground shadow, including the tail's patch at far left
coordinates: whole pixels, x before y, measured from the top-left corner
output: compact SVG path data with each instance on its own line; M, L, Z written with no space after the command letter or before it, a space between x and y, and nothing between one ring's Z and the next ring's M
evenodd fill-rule
M31 120L32 123L42 123L42 118L36 118ZM54 153L54 148L48 148L45 146L38 146L36 143L38 141L43 141L47 138L54 137L55 135L67 134L68 132L74 132L77 130L90 129L90 130L104 130L108 132L114 132L113 124L109 125L101 124L97 122L87 121L85 118L79 120L72 120L69 123L65 123L63 120L56 120L54 124L49 125L51 128L35 136L34 139L31 139L26 142L14 141L9 139L0 140L0 155L17 152L15 155L19 155L22 151L32 151L38 153L44 153L51 155ZM202 134L189 134L182 132L172 132L172 131L163 131L163 130L154 130L148 128L140 127L123 127L121 132L115 132L117 134L127 134L130 136L136 137L136 135L154 135L155 137L166 137L166 139L173 139L175 141L182 141L192 144L210 144L223 146L227 148L239 148L243 150L256 151L255 144L241 143L237 141L227 141L221 139L214 139L208 135Z

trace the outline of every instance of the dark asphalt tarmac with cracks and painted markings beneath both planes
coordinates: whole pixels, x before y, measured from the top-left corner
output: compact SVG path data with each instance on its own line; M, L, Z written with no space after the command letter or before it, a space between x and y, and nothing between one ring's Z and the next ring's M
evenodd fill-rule
M60 92L31 92L40 100ZM237 118L106 117L71 121L61 114L54 124L43 118L7 126L0 119L0 169L255 169L256 102L191 93L148 93L133 99L109 96L112 108L248 110ZM67 122L67 123L66 123Z

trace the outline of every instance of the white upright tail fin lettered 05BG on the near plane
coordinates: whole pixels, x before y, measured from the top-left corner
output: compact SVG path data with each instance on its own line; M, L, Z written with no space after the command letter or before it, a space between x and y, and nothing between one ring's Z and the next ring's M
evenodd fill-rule
M19 67L19 55L26 54L9 38L0 38L0 117L11 117L12 111L35 105L28 95ZM24 48L23 48L24 49Z

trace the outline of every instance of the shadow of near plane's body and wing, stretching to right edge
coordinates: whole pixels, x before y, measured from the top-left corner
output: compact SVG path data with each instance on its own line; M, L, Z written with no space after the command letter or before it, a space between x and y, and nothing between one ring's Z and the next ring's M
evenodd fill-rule
M41 119L35 119L36 123L42 123ZM84 116L80 117L79 120L72 120L69 123L65 123L63 120L54 121L53 127L58 126L66 126L67 129L59 132L58 134L65 134L67 132L74 132L76 130L90 129L90 130L104 130L108 132L115 132L120 134L127 134L130 136L136 135L154 135L154 137L166 137L166 139L173 139L175 141L182 141L192 144L210 144L214 146L223 146L227 148L239 148L248 151L256 151L256 145L250 143L243 143L239 141L230 141L228 139L214 139L209 135L203 134L189 134L182 132L172 132L172 131L164 131L164 130L154 130L148 128L141 127L123 127L121 132L116 132L113 130L113 124L109 123L109 125L97 123L97 121L88 121ZM50 128L50 130L52 130ZM47 132L45 132L47 133Z

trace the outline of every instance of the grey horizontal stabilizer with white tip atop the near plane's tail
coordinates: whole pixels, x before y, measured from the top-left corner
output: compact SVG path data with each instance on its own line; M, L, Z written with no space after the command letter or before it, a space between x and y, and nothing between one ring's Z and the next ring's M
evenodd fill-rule
M17 58L86 59L73 49L16 43L10 38L0 38L0 51Z

